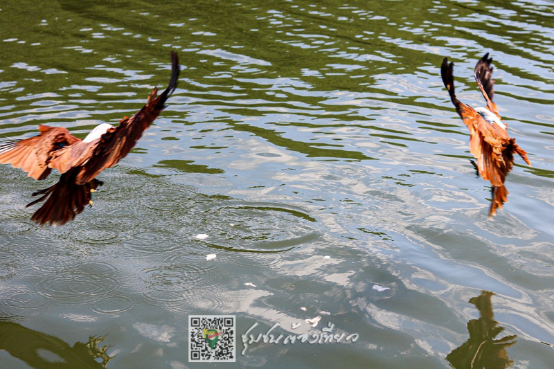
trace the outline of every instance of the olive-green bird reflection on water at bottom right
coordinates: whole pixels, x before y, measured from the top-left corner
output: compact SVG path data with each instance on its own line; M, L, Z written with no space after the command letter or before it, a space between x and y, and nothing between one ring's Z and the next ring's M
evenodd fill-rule
M479 310L480 317L467 322L470 339L446 357L456 369L503 369L514 363L508 357L506 348L517 343L514 341L517 335L494 339L504 327L500 327L493 318L491 296L494 296L493 292L482 291L481 295L470 299L470 303Z

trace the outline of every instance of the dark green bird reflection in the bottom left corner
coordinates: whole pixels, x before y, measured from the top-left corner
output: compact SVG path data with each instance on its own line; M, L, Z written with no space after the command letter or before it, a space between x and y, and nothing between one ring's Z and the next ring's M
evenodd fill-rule
M10 321L0 321L0 350L37 369L101 369L114 356L107 350L111 346L98 344L104 336L89 336L87 343L75 342L73 346L55 336L30 330Z

